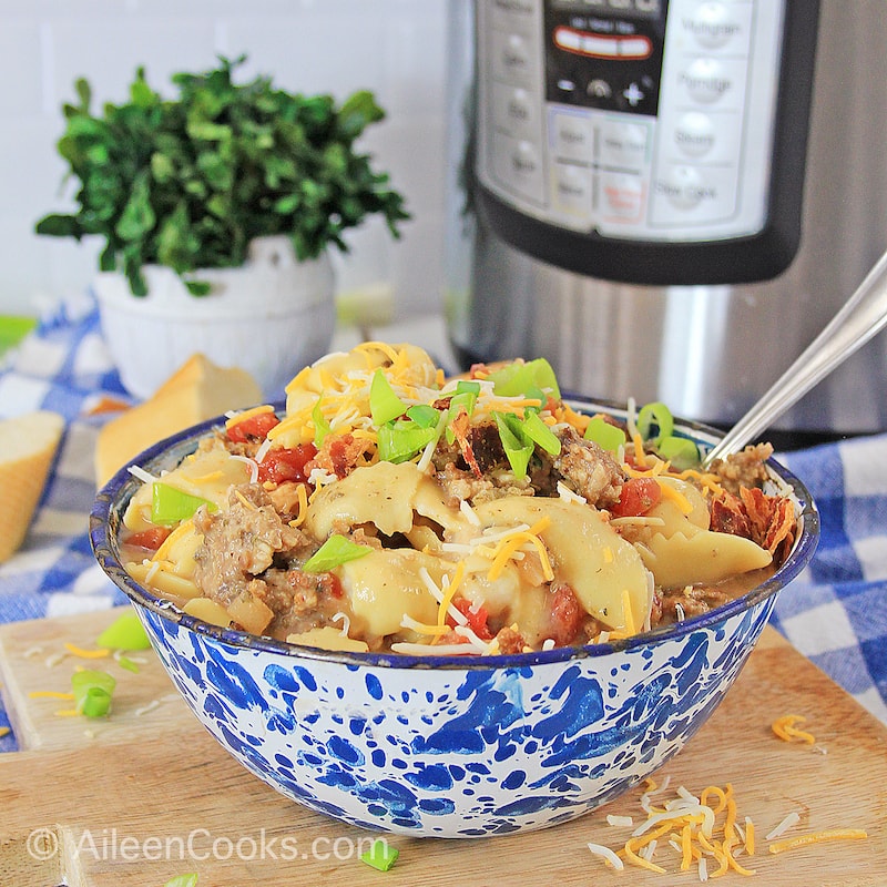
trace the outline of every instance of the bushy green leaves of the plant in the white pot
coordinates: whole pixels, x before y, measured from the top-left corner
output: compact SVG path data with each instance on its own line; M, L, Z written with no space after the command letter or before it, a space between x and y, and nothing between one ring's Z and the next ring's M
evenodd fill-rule
M90 110L92 90L77 82L63 105L59 154L80 181L74 213L51 213L38 234L99 235L101 271L121 271L145 295L142 268L166 265L194 295L208 292L200 268L244 264L251 241L288 235L299 261L328 246L347 251L346 228L381 214L399 236L404 198L355 141L384 118L373 93L337 105L329 95L293 94L269 78L238 84L244 57L216 69L172 77L164 100L137 69L124 104Z

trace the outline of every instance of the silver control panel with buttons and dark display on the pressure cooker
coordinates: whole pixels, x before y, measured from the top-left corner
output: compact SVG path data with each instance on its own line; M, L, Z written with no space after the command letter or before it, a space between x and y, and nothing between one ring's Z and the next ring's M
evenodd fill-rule
M478 0L478 181L522 216L603 238L756 234L786 4Z

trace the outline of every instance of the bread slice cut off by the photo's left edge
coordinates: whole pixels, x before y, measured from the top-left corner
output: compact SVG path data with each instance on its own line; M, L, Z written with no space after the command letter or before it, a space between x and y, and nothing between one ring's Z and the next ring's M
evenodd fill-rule
M0 563L24 541L63 431L64 418L49 410L0 421Z

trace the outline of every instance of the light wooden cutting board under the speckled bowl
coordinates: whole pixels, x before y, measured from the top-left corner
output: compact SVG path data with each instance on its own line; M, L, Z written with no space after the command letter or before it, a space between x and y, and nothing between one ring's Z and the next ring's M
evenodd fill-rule
M630 793L543 832L479 840L389 837L399 853L387 873L358 858L370 833L312 813L246 773L204 731L150 651L137 674L113 660L89 662L64 643L94 649L116 613L0 628L3 696L21 751L0 755L2 887L162 887L196 871L198 887L269 885L663 885L696 881L680 859L669 868L618 873L588 849L618 848L630 829L608 814L643 820ZM59 716L79 665L118 677L113 716ZM806 716L816 746L777 740L771 723ZM751 884L876 887L887 884L887 727L873 718L773 630L692 743L656 775L699 793L732 783L740 822L755 823L757 850L742 861ZM793 812L786 836L865 828L865 840L818 844L781 855L764 836ZM720 884L748 884L728 873Z

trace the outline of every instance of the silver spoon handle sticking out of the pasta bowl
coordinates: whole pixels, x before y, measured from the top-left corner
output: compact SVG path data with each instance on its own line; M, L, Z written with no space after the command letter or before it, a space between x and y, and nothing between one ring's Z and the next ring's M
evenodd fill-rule
M703 467L738 452L886 324L887 253L795 363L705 455Z

